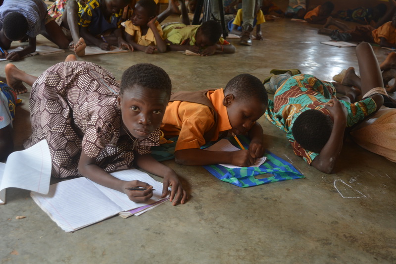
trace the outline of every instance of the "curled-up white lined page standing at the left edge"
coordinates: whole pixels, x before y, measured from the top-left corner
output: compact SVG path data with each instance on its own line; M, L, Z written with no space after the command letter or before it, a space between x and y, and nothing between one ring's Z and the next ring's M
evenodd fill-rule
M47 140L7 158L0 190L15 187L46 194L51 176L51 156Z

